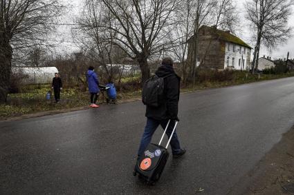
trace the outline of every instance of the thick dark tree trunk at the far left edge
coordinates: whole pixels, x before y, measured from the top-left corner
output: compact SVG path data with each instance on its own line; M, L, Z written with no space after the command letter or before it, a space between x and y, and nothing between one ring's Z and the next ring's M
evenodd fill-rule
M12 48L9 43L0 42L0 103L6 103L10 86Z

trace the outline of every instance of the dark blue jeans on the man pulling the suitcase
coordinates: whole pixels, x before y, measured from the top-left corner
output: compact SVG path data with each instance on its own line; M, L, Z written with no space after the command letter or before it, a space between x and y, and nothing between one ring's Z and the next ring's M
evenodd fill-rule
M163 130L165 130L165 127L167 125L168 120L158 121L155 119L147 118L147 123L145 126L145 130L143 133L143 136L141 138L141 143L138 151L138 155L143 154L145 152L145 149L147 145L150 143L152 135L154 134L155 130L157 129L158 125L161 125L163 127ZM167 127L166 134L169 138L170 134L172 134L172 130L174 130L174 121L170 121L169 127ZM158 140L159 142L159 140ZM166 143L165 143L166 145ZM165 145L163 145L165 147ZM172 135L172 140L170 141L170 145L172 146L172 154L176 154L181 151L180 143L178 141L178 136L176 135L176 130L174 131L174 134Z

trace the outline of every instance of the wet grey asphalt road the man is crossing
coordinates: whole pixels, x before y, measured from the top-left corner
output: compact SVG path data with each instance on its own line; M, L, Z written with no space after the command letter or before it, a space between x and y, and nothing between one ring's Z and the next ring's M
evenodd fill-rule
M132 175L140 101L2 122L0 194L228 194L293 125L294 78L182 94L179 105L187 154L151 187Z

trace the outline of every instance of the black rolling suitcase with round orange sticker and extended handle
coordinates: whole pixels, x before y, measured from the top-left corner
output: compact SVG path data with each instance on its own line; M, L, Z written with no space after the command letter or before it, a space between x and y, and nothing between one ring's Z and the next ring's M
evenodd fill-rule
M170 120L165 127L165 132L167 131L169 122ZM177 124L178 121L176 121L174 125L174 130L176 130ZM161 136L158 145L150 143L145 149L144 154L140 154L140 158L138 158L135 166L134 176L136 176L136 174L139 174L139 177L143 178L147 182L147 184L150 185L154 185L156 181L159 180L169 157L167 147L169 145L169 142L172 140L174 130L172 130L172 134L169 137L169 141L167 141L167 145L165 147L160 145L163 141L163 137L165 136L165 132L163 132L163 136Z

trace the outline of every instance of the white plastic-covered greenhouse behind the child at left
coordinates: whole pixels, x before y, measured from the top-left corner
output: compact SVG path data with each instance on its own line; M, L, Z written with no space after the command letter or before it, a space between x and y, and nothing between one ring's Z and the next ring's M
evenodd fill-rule
M24 84L42 84L51 83L55 72L58 72L56 67L17 67L12 68L12 74L23 74L25 78L22 79Z

